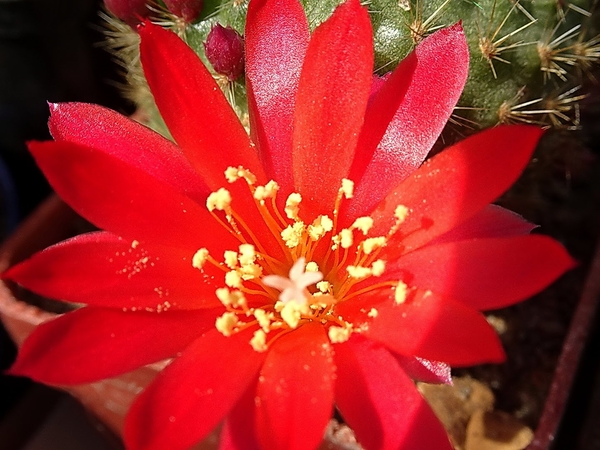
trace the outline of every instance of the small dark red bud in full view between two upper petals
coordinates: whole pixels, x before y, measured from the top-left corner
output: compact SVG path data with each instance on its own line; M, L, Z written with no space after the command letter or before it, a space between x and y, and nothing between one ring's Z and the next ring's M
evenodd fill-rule
M244 71L244 38L233 28L215 25L204 43L206 57L217 73L234 81Z

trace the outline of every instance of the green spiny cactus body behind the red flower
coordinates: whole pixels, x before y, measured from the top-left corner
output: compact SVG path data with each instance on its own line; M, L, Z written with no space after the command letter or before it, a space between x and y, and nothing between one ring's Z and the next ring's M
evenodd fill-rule
M114 1L114 0L113 0ZM125 1L125 0L123 0ZM302 0L312 28L340 0ZM435 30L462 21L471 54L467 85L451 119L460 134L498 123L533 123L555 128L578 126L584 77L600 60L594 24L597 0L369 0L375 45L374 73L391 71L415 45ZM150 16L176 31L207 62L204 43L217 24L243 33L248 0L205 2L200 20L190 23L162 3ZM135 52L136 33L109 20L109 45L128 74L130 96L152 111ZM210 67L210 65L209 65ZM247 118L243 78L215 72L240 117ZM431 95L435 95L432 92ZM151 123L165 131L152 114Z

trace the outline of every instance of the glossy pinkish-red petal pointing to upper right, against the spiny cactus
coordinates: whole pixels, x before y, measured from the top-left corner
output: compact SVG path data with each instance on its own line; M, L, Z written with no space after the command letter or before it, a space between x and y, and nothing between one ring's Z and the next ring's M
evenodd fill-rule
M360 153L357 153L351 176L356 182L360 180L350 204L353 217L371 211L395 185L421 165L450 118L467 80L469 49L460 24L423 40L414 55L416 66L412 62L412 70L407 70L404 62L395 70L407 77L405 82L410 85L400 98L396 114L377 150L373 153L372 147L358 147ZM394 98L387 85L394 83L395 76L392 74L376 94L373 108L379 108L376 103ZM404 89L397 95L402 95ZM385 124L388 122L389 119Z

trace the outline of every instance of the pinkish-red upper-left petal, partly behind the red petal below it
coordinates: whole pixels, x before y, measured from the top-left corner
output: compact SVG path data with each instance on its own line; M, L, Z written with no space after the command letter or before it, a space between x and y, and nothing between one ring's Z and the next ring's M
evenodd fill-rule
M208 188L181 150L160 134L88 103L51 103L48 127L57 141L93 147L170 184L199 201Z

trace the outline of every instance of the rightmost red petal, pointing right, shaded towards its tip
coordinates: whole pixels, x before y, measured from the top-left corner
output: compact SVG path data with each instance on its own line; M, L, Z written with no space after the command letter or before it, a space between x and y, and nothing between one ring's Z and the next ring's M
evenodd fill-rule
M385 276L484 310L530 297L574 265L558 242L532 235L428 245L388 264Z

